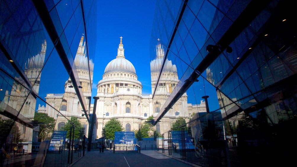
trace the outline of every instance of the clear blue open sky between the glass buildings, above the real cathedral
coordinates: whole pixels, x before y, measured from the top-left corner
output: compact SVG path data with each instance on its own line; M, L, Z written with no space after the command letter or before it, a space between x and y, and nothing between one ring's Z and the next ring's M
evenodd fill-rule
M92 96L106 65L116 58L123 37L125 57L136 69L143 94L151 94L149 44L156 0L97 1L97 46ZM95 89L95 91L94 91Z

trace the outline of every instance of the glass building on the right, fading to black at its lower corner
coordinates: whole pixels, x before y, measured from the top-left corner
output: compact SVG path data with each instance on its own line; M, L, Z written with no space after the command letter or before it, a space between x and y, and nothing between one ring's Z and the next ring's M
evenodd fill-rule
M198 166L296 166L296 29L296 1L158 0L157 151Z

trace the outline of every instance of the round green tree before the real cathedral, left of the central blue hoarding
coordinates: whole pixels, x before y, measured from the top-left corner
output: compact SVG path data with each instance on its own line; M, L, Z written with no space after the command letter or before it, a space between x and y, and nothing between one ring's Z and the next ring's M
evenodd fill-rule
M114 140L114 132L124 131L123 124L116 118L110 119L104 126L105 140Z

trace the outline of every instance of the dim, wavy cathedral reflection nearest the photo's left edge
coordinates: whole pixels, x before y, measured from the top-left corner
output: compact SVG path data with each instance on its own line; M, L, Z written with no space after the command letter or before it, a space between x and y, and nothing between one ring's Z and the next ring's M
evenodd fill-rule
M33 136L35 134L35 126L32 123L35 114L36 97L29 93L28 87L32 87L32 91L38 95L41 70L45 61L46 46L46 41L44 40L43 43L40 44L38 54L26 60L24 74L27 77L27 82L20 77L15 78L20 83L23 83L23 85L16 81L12 82L12 89L6 90L3 99L4 103L0 103L1 112L2 109L8 110L8 108L11 107L10 114L19 118L14 125L15 134L10 135L20 135L20 140L23 141L26 152L31 152L31 145L28 144L28 142L37 141L37 139L35 140L35 136ZM6 117L2 115L0 116L0 119L7 120ZM39 127L37 127L37 129L38 128Z

